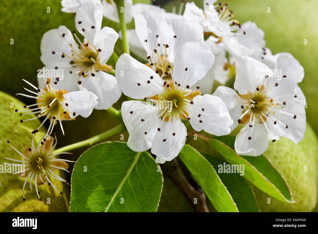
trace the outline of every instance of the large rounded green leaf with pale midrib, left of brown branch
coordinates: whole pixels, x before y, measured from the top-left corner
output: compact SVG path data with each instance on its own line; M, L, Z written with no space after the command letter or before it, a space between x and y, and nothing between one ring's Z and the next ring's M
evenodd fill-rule
M72 212L155 212L163 177L149 153L106 142L79 157L71 184Z

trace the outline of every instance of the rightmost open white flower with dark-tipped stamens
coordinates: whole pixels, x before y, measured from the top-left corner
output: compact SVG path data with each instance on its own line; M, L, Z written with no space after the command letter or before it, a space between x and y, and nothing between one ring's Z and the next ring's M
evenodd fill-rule
M279 56L273 73L265 64L246 57L236 68L234 89L220 86L213 95L220 97L234 120L246 125L235 139L240 155L258 156L266 151L269 140L286 137L299 143L306 130L305 96L298 83L304 69L293 57Z

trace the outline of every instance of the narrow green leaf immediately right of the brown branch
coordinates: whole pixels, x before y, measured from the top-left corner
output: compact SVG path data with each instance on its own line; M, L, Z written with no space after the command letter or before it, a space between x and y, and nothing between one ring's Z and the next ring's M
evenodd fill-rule
M190 145L184 145L179 156L215 209L219 212L238 212L230 193L208 160Z

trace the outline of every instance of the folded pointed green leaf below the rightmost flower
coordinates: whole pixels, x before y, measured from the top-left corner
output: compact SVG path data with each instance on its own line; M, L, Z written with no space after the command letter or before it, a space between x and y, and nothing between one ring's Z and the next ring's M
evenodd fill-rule
M244 164L244 177L257 188L280 201L294 202L287 181L265 156L238 155L234 150L234 136L216 137L210 141L226 161L231 164Z

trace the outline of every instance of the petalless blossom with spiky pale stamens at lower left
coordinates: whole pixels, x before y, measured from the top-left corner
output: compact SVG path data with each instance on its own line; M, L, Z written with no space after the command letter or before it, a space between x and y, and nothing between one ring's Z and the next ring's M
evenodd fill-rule
M15 158L13 159L5 158L14 162L22 163L20 165L22 165L24 169L18 172L15 172L11 175L19 174L21 177L26 178L23 184L23 190L22 190L23 201L25 201L24 188L29 179L30 179L30 189L32 192L38 195L39 201L42 201L42 199L40 197L40 192L38 191L38 185L42 185L42 184L47 184L49 186L52 185L52 187L55 190L57 190L59 194L62 194L62 192L59 189L57 189L52 183L51 181L52 178L55 180L64 181L68 185L69 183L67 180L64 180L59 175L55 174L54 171L61 169L69 173L69 171L66 170L68 168L67 162L74 162L74 161L70 161L66 159L55 158L59 154L72 155L72 153L67 153L67 152L61 152L56 154L52 153L54 147L57 144L56 137L55 137L54 145L53 145L53 142L54 142L53 137L44 136L43 138L40 139L40 141L38 142L38 145L36 146L34 144L35 135L36 133L33 133L31 147L25 149L23 153L19 152L16 148L14 148L10 144L9 140L7 141L8 144L11 146L11 148L14 149L23 158L23 160L17 160ZM6 163L6 164L17 165L17 163ZM49 177L51 177L51 179ZM32 181L35 182L35 191L32 190Z

